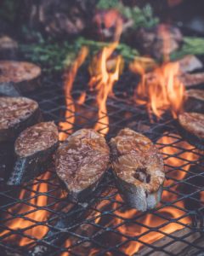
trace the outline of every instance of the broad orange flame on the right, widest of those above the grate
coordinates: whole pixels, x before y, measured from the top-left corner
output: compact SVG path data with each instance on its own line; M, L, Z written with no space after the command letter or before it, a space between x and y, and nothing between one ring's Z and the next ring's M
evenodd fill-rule
M141 67L135 66L134 72L141 74L141 82L134 91L134 100L146 104L158 118L170 109L173 118L182 111L184 103L184 84L178 79L178 62L169 62L157 67L152 73L144 73Z

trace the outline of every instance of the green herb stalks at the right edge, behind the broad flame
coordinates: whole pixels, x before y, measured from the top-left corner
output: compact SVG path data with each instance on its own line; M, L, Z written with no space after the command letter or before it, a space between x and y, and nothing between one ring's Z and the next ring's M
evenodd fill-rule
M204 55L204 38L184 37L183 46L173 52L171 60L180 59L184 55Z

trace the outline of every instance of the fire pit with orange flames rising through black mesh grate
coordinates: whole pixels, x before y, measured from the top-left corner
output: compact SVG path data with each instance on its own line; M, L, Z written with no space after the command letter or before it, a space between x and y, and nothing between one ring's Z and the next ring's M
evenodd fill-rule
M145 212L128 207L111 168L94 193L73 202L56 175L53 159L47 172L28 183L0 183L3 255L204 252L204 155L184 139L177 121L185 108L186 78L179 73L178 62L167 59L161 65L150 62L148 73L137 58L123 68L122 55L114 53L119 51L118 34L116 30L115 43L103 45L88 64L88 47L83 46L64 71L64 79L42 73L42 86L24 96L38 102L45 121L58 125L60 143L82 128L99 131L107 142L125 127L149 137L160 150L166 170L161 202ZM10 144L4 143L1 166L10 150Z

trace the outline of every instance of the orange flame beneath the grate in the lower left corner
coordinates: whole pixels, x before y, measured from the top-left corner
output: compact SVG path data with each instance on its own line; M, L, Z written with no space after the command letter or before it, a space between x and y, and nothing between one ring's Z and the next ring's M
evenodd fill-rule
M48 179L49 172L46 172L40 176L40 179ZM10 232L15 230L25 230L23 231L25 236L12 235L8 236L7 241L18 241L20 246L26 246L33 242L30 238L26 236L33 236L36 239L41 239L48 232L48 228L45 225L35 225L36 222L43 222L48 219L49 213L45 210L39 210L39 207L46 207L48 205L48 197L46 195L37 194L45 193L48 191L48 183L36 183L31 189L29 197L31 200L28 204L24 204L23 200L27 199L27 191L25 189L20 192L20 200L22 202L15 207L11 207L8 211L10 214L18 212L18 214L23 215L24 218L14 218L8 220L5 225L9 230L4 230L0 236L8 235ZM26 230L26 228L29 228Z

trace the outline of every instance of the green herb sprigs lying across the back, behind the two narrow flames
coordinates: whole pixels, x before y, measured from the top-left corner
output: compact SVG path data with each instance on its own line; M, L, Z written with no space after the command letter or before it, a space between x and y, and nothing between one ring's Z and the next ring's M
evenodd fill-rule
M43 71L53 72L61 71L63 68L70 66L83 45L88 46L90 50L89 58L91 58L99 49L109 44L88 40L86 38L77 38L77 40L72 43L67 41L51 43L41 40L37 44L20 45L20 50L26 56L27 60L41 65ZM116 51L127 61L132 61L136 55L139 55L137 49L132 49L127 46L127 44L118 44Z

